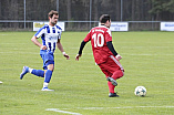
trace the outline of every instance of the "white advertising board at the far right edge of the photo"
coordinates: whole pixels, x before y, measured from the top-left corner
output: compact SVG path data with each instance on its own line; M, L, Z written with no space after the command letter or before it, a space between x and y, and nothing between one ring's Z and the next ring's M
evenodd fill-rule
M161 31L174 31L174 22L161 22Z

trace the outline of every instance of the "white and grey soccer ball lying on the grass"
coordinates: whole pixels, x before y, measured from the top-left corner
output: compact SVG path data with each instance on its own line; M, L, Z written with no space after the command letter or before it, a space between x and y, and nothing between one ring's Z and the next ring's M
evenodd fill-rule
M146 88L144 86L137 86L135 88L134 93L136 96L145 96L146 95Z

